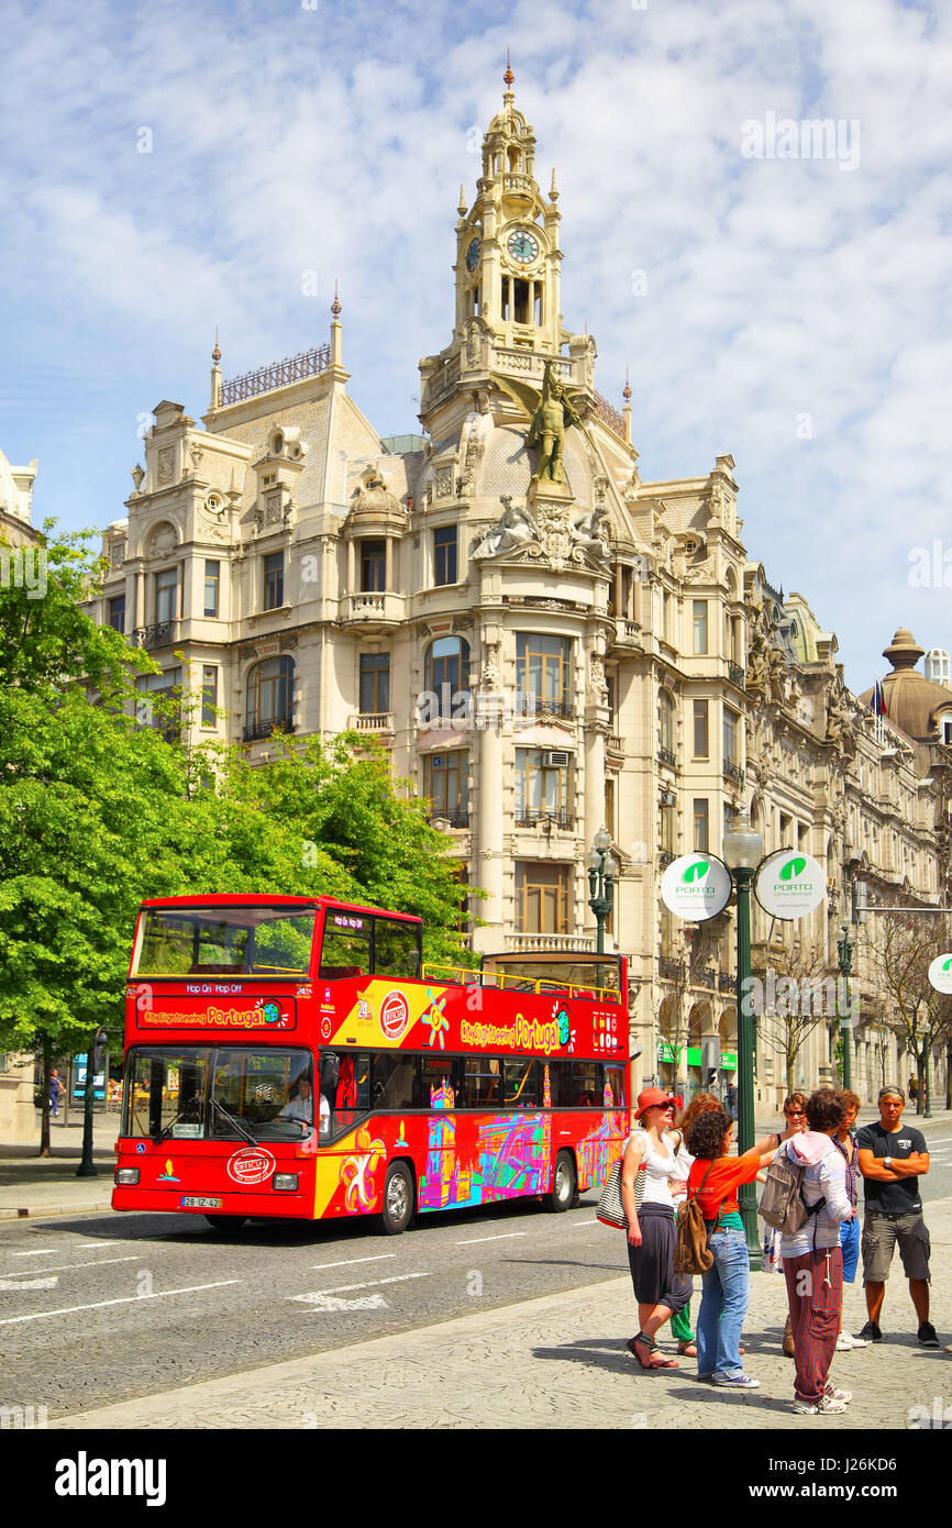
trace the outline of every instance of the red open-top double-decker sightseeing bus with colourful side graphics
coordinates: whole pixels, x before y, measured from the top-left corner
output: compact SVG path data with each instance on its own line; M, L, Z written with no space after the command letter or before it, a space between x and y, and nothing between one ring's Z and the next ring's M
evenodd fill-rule
M617 955L423 966L420 918L329 897L144 902L113 1209L380 1215L597 1186L628 1131Z

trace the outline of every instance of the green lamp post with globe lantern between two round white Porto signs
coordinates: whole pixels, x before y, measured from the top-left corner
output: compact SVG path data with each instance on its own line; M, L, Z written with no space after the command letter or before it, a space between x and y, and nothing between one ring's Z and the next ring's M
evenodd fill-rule
M738 811L724 833L724 863L737 888L737 1109L738 1152L750 1151L755 1141L753 1123L753 1002L750 996L750 882L764 853L764 840L750 824L749 811ZM747 1238L750 1267L761 1267L761 1244L756 1225L756 1193L752 1183L741 1184L738 1206Z

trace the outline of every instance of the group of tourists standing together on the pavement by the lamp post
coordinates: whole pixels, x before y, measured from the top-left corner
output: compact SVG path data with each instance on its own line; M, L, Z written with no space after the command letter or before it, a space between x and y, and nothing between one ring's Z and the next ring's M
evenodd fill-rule
M677 1125L671 1094L662 1088L639 1094L637 1128L622 1158L620 1195L639 1309L639 1331L628 1351L643 1371L680 1368L657 1343L671 1322L678 1355L697 1358L698 1380L727 1390L759 1387L743 1363L750 1258L737 1195L744 1183L766 1181L775 1160L785 1161L770 1178L790 1181L801 1198L799 1213L784 1221L782 1230L767 1227L764 1242L764 1267L782 1267L787 1284L782 1349L796 1366L793 1410L845 1412L851 1392L830 1384L833 1355L882 1340L879 1320L897 1242L918 1317L918 1342L923 1348L940 1346L929 1322L929 1232L920 1196L929 1154L920 1131L902 1125L905 1105L902 1088L882 1088L879 1120L857 1132L860 1100L850 1089L818 1088L808 1097L793 1093L784 1100L784 1129L733 1155L733 1122L714 1094L697 1094ZM706 1230L704 1262L711 1265L701 1274L692 1332L694 1285L689 1274L677 1271L675 1251L678 1207L694 1199ZM793 1227L793 1221L802 1224ZM856 1277L860 1253L869 1319L853 1337L840 1329L842 1293L844 1280Z

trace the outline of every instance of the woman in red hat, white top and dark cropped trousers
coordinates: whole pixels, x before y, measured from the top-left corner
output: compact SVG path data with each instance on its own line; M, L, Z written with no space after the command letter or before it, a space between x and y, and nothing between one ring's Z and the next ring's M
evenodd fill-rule
M656 1334L691 1299L691 1279L674 1273L674 1199L671 1177L675 1152L665 1140L674 1123L675 1100L660 1088L639 1093L636 1118L642 1128L631 1132L622 1158L622 1206L628 1218L628 1265L639 1308L639 1331L628 1351L642 1369L678 1369L665 1358ZM634 1187L645 1172L645 1195L639 1212Z

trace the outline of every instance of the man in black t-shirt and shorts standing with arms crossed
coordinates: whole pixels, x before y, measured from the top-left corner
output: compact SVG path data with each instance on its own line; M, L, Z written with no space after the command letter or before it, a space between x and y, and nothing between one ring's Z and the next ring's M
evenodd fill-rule
M863 1285L869 1320L860 1337L882 1339L879 1316L895 1242L918 1316L923 1348L938 1348L929 1322L929 1232L923 1221L920 1178L929 1170L929 1152L921 1131L903 1126L906 1096L902 1088L880 1088L879 1120L856 1135L859 1170L865 1178Z

